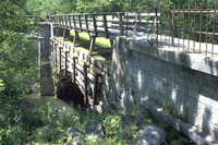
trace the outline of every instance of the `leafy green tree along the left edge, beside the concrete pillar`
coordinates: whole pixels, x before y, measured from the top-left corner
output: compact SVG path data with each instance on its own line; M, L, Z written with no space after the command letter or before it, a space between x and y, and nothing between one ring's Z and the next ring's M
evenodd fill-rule
M34 47L26 35L33 27L17 3L19 0L0 2L0 92L8 96L25 93L37 76L31 53Z

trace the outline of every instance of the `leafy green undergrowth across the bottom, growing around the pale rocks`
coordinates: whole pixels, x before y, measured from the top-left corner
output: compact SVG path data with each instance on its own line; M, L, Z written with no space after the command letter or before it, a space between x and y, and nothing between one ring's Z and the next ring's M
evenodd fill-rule
M194 144L184 135L177 132L166 123L156 123L167 132L166 142L168 145L192 145ZM76 128L83 134L89 124L100 122L106 137L93 140L84 136L85 145L134 145L132 140L120 137L124 131L131 135L137 134L136 123L123 126L121 114L116 111L102 113L89 113L86 111L73 112L70 108L51 108L49 102L39 107L29 107L21 97L9 99L7 96L0 97L0 144L1 145L63 145L74 138L66 134L69 128Z

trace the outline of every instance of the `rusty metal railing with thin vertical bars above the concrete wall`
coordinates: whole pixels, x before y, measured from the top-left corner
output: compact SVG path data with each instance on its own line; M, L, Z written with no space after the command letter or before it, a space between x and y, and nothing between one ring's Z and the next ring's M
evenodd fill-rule
M218 56L218 25L216 5L201 4L164 10L159 26L159 45L182 51Z

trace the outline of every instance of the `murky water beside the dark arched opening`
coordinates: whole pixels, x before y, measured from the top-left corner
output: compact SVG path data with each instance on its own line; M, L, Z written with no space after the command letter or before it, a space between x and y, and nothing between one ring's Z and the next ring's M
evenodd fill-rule
M40 96L39 94L34 93L26 95L24 97L24 101L26 101L26 104L32 108L37 108L49 102L52 109L68 108L68 110L77 113L77 111L70 104L53 96Z

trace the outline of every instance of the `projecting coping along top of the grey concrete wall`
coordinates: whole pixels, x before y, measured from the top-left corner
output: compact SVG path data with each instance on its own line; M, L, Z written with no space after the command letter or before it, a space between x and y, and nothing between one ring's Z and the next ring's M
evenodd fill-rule
M179 51L169 46L161 48L150 46L146 39L132 39L126 37L117 37L116 39L126 41L125 48L129 50L218 76L218 58L205 57L204 53Z

